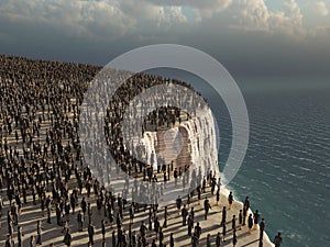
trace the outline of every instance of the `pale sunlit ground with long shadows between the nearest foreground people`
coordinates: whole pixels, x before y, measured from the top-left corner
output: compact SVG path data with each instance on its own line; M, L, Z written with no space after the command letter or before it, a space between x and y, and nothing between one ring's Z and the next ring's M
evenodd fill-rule
M85 192L85 191L84 191ZM210 203L211 203L211 211L209 213L208 220L205 220L204 217L204 207L202 207L202 201L200 201L200 205L198 203L197 198L195 197L193 203L190 203L190 207L194 206L195 209L195 221L198 221L200 223L200 226L202 228L201 238L198 246L206 246L206 237L207 234L211 235L211 242L212 246L216 246L216 235L218 232L222 233L222 227L220 227L220 221L221 221L221 210L223 205L227 205L227 197L221 194L221 201L220 204L216 205L216 197L211 197L210 189L206 191L206 193L202 194L202 198L209 197ZM89 199L91 202L95 201L94 195ZM23 226L24 231L24 242L23 246L29 246L29 238L31 235L36 234L36 221L38 218L43 220L43 227L44 232L42 235L43 245L42 246L48 246L51 243L54 243L55 246L65 246L63 244L63 233L62 227L56 225L56 218L55 218L55 212L52 213L52 224L46 223L46 215L41 215L41 210L37 205L33 205L31 202L31 198L29 200L29 203L26 205L23 205L22 213L20 215L19 222L20 225ZM185 202L185 200L184 200ZM158 207L158 218L161 221L161 225L163 224L163 215L164 215L164 205L166 203L162 203ZM167 203L168 204L168 203ZM94 205L94 225L96 226L96 236L95 236L95 246L101 246L101 220L103 218L103 210L100 212L97 211L96 205ZM7 235L7 209L8 204L3 209L2 218L1 218L1 229L0 229L0 246L4 246L6 235ZM232 233L231 233L231 218L233 214L238 215L239 210L242 207L242 204L240 202L233 203L233 206L231 210L228 210L227 214L227 237L226 242L223 243L223 246L232 246ZM190 211L190 209L189 209ZM169 234L174 233L174 238L176 246L191 246L190 237L187 233L187 226L182 225L182 216L177 215L175 202L170 202L168 204L168 226L164 229L164 236L165 236L165 244L168 243ZM124 221L123 221L123 228L128 233L129 228L129 211L128 209L124 211ZM144 213L143 210L140 213L135 214L134 224L132 229L135 229L136 233L139 232L139 227L141 224L141 221L145 221L147 225L147 218L148 218L148 210ZM88 243L88 234L87 234L87 221L85 222L85 229L84 232L77 231L77 214L70 214L69 216L69 225L72 228L72 236L73 236L73 245L72 246L87 246ZM15 227L16 231L16 227ZM116 225L112 227L107 227L107 246L112 246L111 242L111 233L112 231L116 231ZM154 232L147 233L148 242L151 243L153 238L155 238ZM251 235L248 234L248 226L243 226L241 231L238 229L237 232L238 236L238 245L237 246L250 246L250 247L258 247L258 229L254 229ZM16 243L16 233L14 233L14 240ZM157 242L158 243L158 242ZM268 242L268 237L264 235L264 247L273 246Z

